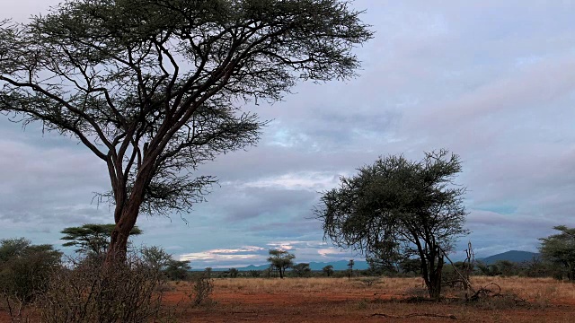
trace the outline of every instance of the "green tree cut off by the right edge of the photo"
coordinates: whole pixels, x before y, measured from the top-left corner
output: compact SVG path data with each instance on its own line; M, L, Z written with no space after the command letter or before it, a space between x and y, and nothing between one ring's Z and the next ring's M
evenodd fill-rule
M541 258L559 268L562 276L575 280L575 228L565 225L553 227L560 233L541 238Z

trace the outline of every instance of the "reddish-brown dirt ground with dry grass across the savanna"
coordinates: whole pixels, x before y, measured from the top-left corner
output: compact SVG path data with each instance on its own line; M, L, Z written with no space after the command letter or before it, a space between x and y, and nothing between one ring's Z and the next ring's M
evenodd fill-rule
M193 306L191 285L164 292L162 322L575 322L575 285L553 279L485 278L506 297L465 304L446 291L440 303L409 301L424 296L416 278L214 279L211 301ZM509 297L508 297L509 296ZM0 311L0 322L10 322Z

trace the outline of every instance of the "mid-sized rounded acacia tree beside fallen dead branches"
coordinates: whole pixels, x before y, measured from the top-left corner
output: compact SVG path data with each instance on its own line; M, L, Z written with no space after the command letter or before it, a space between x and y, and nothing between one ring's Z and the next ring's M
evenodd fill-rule
M383 261L419 256L429 297L438 300L445 253L467 233L462 195L453 179L461 162L447 151L426 153L420 162L379 158L341 177L340 188L323 192L314 213L324 238ZM400 257L401 256L401 257Z

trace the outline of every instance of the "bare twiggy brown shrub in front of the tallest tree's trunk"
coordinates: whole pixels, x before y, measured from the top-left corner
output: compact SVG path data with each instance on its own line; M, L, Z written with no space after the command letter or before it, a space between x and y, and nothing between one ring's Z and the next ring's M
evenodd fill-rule
M74 261L51 276L37 306L46 323L126 322L157 318L164 275L135 254L126 262Z

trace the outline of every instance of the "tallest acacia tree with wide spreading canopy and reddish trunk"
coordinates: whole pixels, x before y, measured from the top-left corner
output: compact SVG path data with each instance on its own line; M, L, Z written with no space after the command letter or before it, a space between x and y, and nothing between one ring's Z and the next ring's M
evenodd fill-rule
M0 22L0 112L77 138L105 162L124 255L138 214L190 211L194 170L255 144L243 100L355 76L372 37L344 0L77 0Z

